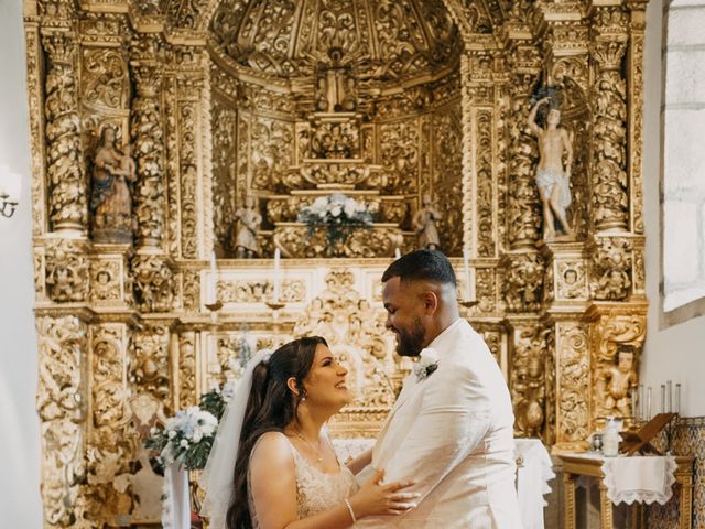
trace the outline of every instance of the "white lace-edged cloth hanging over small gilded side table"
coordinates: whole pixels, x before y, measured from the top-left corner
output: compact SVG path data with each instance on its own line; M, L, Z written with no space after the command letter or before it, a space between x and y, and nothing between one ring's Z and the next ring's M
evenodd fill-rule
M626 476L625 473L628 471L625 463L629 463L630 466L637 465L642 472L639 475ZM647 466L644 467L644 465ZM677 464L672 455L605 457L601 471L605 474L607 497L615 505L622 501L627 505L634 501L648 505L657 501L660 505L665 505L673 496L676 468ZM644 473L644 469L649 472ZM648 477L644 478L643 475L648 475Z

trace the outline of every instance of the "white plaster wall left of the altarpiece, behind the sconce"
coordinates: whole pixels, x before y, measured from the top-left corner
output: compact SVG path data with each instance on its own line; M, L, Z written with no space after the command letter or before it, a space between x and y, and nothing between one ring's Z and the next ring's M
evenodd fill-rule
M0 217L0 526L42 527L22 2L0 0L0 166L22 175L20 205Z

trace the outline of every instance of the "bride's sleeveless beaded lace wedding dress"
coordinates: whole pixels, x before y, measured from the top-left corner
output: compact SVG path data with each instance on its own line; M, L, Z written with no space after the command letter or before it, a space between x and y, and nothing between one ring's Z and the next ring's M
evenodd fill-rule
M324 510L343 505L358 489L357 482L350 469L338 462L340 471L332 474L321 472L286 439L291 452L294 456L294 467L296 475L296 510L299 519L308 518ZM257 444L252 452L257 449ZM248 473L248 482L250 475ZM252 487L248 483L248 500L250 516L252 518L252 529L259 529L260 525L254 511L252 500Z

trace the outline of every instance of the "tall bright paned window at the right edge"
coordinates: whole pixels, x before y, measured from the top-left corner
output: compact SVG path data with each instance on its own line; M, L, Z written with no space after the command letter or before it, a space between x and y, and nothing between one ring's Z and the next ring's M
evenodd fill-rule
M705 314L705 0L664 2L662 323Z

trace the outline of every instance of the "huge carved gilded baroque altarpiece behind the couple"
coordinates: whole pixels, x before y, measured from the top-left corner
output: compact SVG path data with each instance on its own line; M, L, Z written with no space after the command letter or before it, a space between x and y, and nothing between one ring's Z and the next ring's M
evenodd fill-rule
M332 429L373 435L410 368L379 279L424 195L517 434L579 446L628 409L646 3L24 0L45 526L156 521L140 440L248 348L324 335L357 390ZM543 240L528 116L549 86L574 234ZM333 246L297 220L332 193L375 215ZM248 197L257 255L235 259Z

